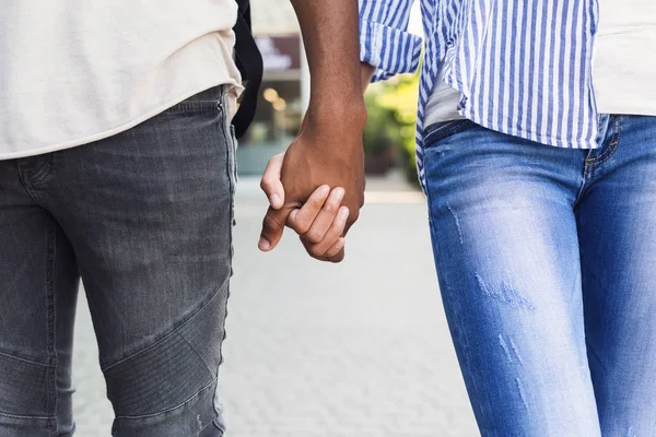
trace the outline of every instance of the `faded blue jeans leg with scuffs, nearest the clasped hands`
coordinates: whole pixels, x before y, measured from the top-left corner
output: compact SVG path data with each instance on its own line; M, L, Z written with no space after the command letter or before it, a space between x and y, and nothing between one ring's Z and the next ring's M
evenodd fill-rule
M460 123L433 134L425 169L440 287L481 434L599 436L572 208L583 155Z

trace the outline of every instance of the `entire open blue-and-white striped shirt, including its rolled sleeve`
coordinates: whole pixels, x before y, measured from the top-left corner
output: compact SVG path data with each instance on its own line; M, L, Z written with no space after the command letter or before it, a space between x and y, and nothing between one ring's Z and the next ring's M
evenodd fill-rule
M417 120L422 186L424 108L437 71L461 93L459 113L531 141L597 147L591 50L596 0L420 0L426 39ZM374 80L417 70L407 32L413 0L360 0L360 52Z

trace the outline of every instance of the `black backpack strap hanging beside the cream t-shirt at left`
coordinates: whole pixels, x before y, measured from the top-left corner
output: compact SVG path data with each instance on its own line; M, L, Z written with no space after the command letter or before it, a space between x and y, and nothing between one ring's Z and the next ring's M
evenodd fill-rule
M232 120L235 135L241 138L253 122L257 109L257 97L262 83L263 62L262 56L255 44L250 31L250 7L248 1L237 1L239 13L235 24L235 61L246 87L242 94L239 109Z

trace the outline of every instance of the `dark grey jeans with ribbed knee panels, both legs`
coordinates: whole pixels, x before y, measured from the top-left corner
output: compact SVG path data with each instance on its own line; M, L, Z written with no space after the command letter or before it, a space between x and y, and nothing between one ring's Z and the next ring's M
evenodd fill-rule
M71 436L79 277L116 437L223 435L234 146L222 87L124 133L0 161L0 436Z

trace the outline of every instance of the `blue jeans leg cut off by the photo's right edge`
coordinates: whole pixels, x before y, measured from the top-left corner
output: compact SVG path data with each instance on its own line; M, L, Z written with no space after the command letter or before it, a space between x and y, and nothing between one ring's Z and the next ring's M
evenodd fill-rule
M656 436L656 118L618 119L576 214L590 371L605 436Z

